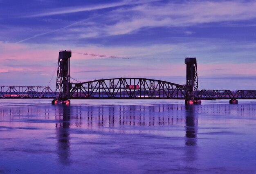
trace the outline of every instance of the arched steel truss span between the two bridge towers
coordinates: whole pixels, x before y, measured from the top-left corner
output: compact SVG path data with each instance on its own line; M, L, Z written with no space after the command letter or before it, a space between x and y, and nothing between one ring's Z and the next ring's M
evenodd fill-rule
M70 99L185 99L185 87L145 78L99 79L73 83Z

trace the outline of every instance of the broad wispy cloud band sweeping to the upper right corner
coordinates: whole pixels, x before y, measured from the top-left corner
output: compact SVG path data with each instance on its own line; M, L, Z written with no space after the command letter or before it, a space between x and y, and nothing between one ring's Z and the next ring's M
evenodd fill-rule
M253 1L137 4L132 7L117 8L104 16L104 21L112 21L111 24L104 22L99 24L99 21L92 22L92 24L80 23L79 26L74 26L73 31L76 30L74 33L79 33L78 36L82 36L81 38L102 37L129 34L143 30L145 27L178 27L211 22L251 20L256 18L255 9L256 2ZM186 32L186 34L192 33Z

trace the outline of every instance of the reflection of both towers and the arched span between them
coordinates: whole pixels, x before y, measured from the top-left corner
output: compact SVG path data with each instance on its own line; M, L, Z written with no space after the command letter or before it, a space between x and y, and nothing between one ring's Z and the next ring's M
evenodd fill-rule
M184 114L185 111L185 117ZM182 111L182 112L180 112ZM135 127L183 126L185 122L185 145L195 146L198 118L194 116L193 106L159 105L159 106L61 106L56 110L56 137L58 159L63 165L70 165L70 128L86 129L127 128L129 132ZM74 123L73 123L74 122ZM112 129L115 132L115 129ZM133 132L136 133L136 132ZM189 150L187 153L195 153Z

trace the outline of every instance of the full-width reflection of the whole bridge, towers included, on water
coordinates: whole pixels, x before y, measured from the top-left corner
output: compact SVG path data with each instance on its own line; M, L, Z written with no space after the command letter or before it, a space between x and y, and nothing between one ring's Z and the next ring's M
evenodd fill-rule
M197 131L200 123L198 114L229 114L243 117L244 115L248 116L248 112L252 113L252 111L256 111L255 104L240 104L232 107L228 104L200 106L178 104L156 104L154 106L13 106L0 108L0 121L13 123L11 122L13 120L14 124L19 121L22 123L27 121L31 126L34 126L33 123L54 124L58 161L63 165L69 165L72 162L70 139L74 129L92 130L94 133L107 131L128 134L137 134L140 133L139 131L147 133L150 130L151 133L157 134L157 131L169 131L171 133L171 128L178 126L181 130L182 127L184 128L184 145L195 146L197 145ZM207 119L204 119L205 121ZM193 152L188 150L188 153Z

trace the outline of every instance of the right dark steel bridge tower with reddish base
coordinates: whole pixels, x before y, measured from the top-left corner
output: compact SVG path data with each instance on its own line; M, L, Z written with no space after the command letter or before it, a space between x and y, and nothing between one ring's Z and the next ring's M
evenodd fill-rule
M198 68L195 57L185 57L186 64L186 100L185 104L200 104L195 100L195 91L198 91Z

